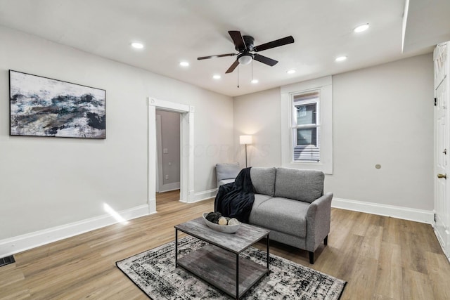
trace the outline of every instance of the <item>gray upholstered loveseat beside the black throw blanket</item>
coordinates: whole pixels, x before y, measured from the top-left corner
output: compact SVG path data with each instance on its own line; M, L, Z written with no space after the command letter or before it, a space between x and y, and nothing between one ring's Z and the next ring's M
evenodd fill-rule
M314 251L328 242L333 193L323 195L321 171L252 167L255 202L249 223L271 230L271 240Z

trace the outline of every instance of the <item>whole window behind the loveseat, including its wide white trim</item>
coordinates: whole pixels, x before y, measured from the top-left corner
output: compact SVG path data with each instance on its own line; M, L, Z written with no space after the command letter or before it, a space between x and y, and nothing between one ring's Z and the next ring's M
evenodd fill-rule
M281 87L283 167L333 173L331 77Z

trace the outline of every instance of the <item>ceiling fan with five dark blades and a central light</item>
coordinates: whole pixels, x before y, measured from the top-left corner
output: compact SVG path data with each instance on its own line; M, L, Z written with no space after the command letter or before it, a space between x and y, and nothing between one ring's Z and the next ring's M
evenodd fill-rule
M253 42L255 41L255 39L253 39L253 37L250 37L250 35L242 35L239 31L236 30L229 31L228 33L230 34L231 39L233 39L236 51L238 51L239 53L219 54L217 56L203 56L197 59L205 60L208 58L222 58L224 56L238 56L233 65L231 65L231 67L229 67L229 69L226 70L225 73L233 72L239 64L248 65L252 62L252 60L257 60L259 61L259 63L265 63L266 65L270 65L272 67L276 65L276 63L278 63L277 60L273 60L266 56L262 56L261 54L252 52L259 52L270 48L292 44L294 42L294 38L292 36L289 36L283 37L283 39L269 41L269 43L259 46L253 46Z

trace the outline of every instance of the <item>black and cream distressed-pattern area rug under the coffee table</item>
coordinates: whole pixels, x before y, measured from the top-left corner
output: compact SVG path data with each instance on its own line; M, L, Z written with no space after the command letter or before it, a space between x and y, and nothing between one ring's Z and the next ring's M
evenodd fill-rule
M179 257L205 244L195 237L184 237L178 241ZM245 250L240 257L266 264L266 253L255 247ZM347 283L273 254L269 261L269 276L264 276L241 299L340 299ZM184 268L175 268L174 242L116 264L151 299L231 299Z

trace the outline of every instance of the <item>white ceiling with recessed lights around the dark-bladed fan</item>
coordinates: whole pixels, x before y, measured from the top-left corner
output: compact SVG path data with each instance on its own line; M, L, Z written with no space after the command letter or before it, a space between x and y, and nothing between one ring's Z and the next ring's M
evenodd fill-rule
M0 0L0 25L238 96L432 51L435 40L424 38L423 26L408 28L433 21L424 2L442 2L439 5L449 11L450 1L409 2L415 13L406 25L405 53L405 0ZM371 25L368 31L353 32L364 23ZM235 52L229 30L251 35L255 45L289 35L295 43L260 52L279 61L274 67L259 62L240 66L238 88L238 69L225 74L236 56L197 60ZM141 41L145 48L131 48L132 41ZM338 56L348 59L336 63ZM181 60L191 65L180 67ZM252 67L258 84L250 83ZM290 69L297 72L286 74ZM221 79L212 79L213 74L221 74Z

